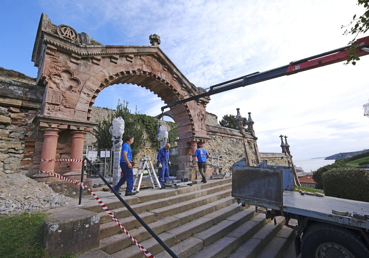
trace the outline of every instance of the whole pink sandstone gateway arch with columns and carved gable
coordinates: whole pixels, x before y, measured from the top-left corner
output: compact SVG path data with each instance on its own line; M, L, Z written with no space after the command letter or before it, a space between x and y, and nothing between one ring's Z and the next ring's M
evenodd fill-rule
M70 162L67 171L53 162L37 164L37 159L60 158L59 153L68 156L68 151L70 158L82 158L84 135L96 125L90 122L92 105L101 90L110 85L136 84L166 104L199 90L159 48L160 37L154 34L150 40L151 46L91 45L86 33L79 34L68 25L57 26L46 14L41 15L32 53L32 61L39 68L37 84L45 87L40 114L34 121L39 135L35 170L39 165L42 171L78 177L80 163ZM127 93L126 99L131 97ZM205 109L209 101L201 98L170 109L179 132L178 173L182 177L188 175L188 153L208 141Z

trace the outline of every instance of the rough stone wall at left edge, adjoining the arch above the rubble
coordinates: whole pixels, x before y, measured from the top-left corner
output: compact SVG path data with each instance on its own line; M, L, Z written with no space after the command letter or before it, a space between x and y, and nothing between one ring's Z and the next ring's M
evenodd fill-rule
M32 120L43 89L24 75L15 80L14 73L0 73L0 171L25 175L31 170L36 139Z

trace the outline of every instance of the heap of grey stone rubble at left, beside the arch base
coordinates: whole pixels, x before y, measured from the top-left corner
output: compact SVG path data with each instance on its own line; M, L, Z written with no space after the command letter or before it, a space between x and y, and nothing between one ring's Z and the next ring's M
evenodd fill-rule
M0 172L0 214L15 215L68 205L72 199L19 173Z

